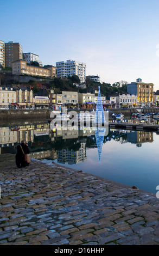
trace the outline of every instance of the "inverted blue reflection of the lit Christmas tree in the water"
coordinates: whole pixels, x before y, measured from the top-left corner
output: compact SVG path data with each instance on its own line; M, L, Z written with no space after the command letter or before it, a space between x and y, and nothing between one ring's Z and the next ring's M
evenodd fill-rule
M94 129L95 136L96 136L96 143L98 148L98 157L99 157L99 163L100 163L100 156L101 156L101 150L103 147L103 141L104 141L104 135L105 135L105 128L97 127Z

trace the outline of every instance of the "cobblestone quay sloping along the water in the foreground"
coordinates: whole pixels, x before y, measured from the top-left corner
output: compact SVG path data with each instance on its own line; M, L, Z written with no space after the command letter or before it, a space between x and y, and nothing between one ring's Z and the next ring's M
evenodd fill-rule
M159 243L156 194L38 160L19 169L10 154L0 170L0 245Z

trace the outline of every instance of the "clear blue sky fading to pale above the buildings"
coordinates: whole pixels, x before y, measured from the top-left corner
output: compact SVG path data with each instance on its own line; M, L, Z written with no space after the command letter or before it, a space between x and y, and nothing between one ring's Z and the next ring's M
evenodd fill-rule
M86 63L101 82L142 78L159 89L158 0L8 0L0 40L19 42L43 65Z

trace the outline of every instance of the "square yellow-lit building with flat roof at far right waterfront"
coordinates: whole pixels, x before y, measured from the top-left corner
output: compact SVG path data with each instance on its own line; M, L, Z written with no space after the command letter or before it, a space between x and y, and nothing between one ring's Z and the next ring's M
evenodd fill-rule
M141 78L138 78L136 82L127 84L127 92L131 95L137 95L139 106L151 106L154 101L154 84L143 83Z

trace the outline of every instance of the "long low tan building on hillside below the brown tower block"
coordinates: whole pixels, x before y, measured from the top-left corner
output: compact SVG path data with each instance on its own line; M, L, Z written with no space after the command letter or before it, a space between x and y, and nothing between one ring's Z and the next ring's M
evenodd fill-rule
M52 68L43 68L40 66L27 65L26 60L19 59L12 62L12 74L13 75L34 75L34 76L45 76L53 77L53 66Z

